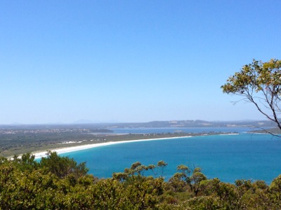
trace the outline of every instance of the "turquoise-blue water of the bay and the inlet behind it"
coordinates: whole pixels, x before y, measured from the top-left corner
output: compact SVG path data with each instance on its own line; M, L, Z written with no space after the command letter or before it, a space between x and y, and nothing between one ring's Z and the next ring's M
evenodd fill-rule
M168 163L164 176L169 179L178 165L201 167L209 178L234 183L236 179L264 180L270 183L281 174L281 138L269 134L249 134L249 128L117 129L116 133L239 132L240 134L141 141L102 146L62 154L86 162L90 174L108 178L123 172L133 162L143 165Z

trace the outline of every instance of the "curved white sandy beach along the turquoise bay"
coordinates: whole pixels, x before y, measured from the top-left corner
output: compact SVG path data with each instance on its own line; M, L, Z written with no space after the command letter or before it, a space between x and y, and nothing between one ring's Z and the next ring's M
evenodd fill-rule
M188 136L191 137L191 136ZM138 141L155 141L155 140L163 140L163 139L180 139L180 138L187 138L187 137L170 137L170 138L158 138L158 139L139 139L139 140L129 140L129 141L109 141L105 143L96 143L96 144L86 144L86 145L81 145L81 146L72 146L72 147L67 147L67 148L57 148L51 150L52 152L57 152L58 154L63 154L63 153L70 153L74 151L81 151L89 148L96 148L100 146L109 146L112 144L123 144L123 143L130 143L130 142L138 142ZM33 155L35 155L35 159L37 158L43 158L46 157L46 151L45 152L35 152Z

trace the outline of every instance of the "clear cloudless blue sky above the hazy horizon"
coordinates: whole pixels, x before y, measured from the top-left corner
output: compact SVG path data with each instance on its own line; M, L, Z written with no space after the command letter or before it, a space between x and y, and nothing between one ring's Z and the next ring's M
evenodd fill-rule
M281 1L0 1L0 124L259 120L221 85L281 59Z

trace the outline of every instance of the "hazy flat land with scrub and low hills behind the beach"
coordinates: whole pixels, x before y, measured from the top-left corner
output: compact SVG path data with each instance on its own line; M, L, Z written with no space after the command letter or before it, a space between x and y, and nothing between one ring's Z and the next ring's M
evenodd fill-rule
M116 128L174 128L173 132L155 134L116 134ZM221 132L182 132L187 127L273 127L269 121L169 120L148 123L80 123L66 125L0 125L0 156L10 157L34 151L47 151L77 145L109 141L131 141L227 134Z

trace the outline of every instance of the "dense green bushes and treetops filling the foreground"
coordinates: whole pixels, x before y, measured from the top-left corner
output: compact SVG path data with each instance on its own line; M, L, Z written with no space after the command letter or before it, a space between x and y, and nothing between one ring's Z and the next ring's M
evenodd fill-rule
M135 162L110 179L87 174L84 162L48 153L0 161L0 209L281 209L281 176L235 184L207 179L200 168L177 167L162 176L166 162ZM152 176L145 176L145 174Z

